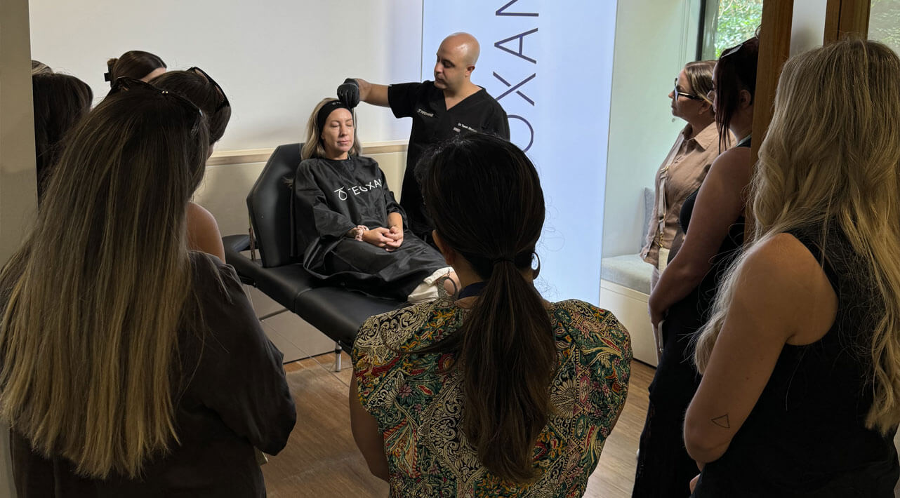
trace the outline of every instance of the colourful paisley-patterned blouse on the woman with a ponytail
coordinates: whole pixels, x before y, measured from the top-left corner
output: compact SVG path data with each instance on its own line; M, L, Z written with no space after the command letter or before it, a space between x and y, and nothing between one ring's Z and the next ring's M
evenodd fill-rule
M481 464L459 427L462 375L453 355L399 354L455 333L467 310L446 301L369 318L353 349L359 400L378 421L393 497L581 496L625 405L632 358L612 313L578 300L551 304L559 368L554 412L538 436L532 484L515 485ZM392 351L395 350L395 351Z

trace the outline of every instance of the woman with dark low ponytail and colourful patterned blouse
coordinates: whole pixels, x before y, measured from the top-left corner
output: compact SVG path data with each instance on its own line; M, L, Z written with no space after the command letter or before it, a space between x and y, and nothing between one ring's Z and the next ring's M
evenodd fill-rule
M535 289L544 194L518 147L474 134L419 167L463 289L360 328L356 444L392 496L581 496L625 403L628 333Z

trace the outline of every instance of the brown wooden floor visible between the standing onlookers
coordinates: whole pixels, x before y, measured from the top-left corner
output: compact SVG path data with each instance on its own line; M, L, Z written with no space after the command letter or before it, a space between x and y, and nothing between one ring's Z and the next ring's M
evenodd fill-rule
M347 393L353 373L342 354L343 369L334 371L334 355L324 354L284 366L297 405L297 425L287 447L263 466L270 498L379 497L388 485L371 476L350 432ZM636 361L631 367L628 400L609 436L585 496L631 496L637 440L644 428L647 387L653 368Z

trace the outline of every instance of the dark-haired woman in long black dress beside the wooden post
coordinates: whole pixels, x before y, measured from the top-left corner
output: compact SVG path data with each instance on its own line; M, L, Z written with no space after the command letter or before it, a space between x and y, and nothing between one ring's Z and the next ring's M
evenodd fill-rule
M691 343L743 244L758 48L759 40L753 38L726 50L716 62L710 96L720 129L719 147L725 148L728 130L737 143L716 157L698 191L684 201L680 212L684 242L650 295L650 319L653 330L662 333L662 355L650 385L635 498L687 497L690 480L697 476L697 464L682 437L684 413L700 381Z

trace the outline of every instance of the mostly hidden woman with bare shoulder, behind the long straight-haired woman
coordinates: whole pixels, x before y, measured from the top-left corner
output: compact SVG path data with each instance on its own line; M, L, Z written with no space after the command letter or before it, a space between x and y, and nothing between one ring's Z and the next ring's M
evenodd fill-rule
M169 71L157 76L151 83L160 89L184 95L202 109L210 123L211 154L212 146L225 134L225 128L231 119L231 104L221 86L200 67ZM212 254L225 261L225 246L222 245L216 218L195 202L187 205L187 236L191 249Z

